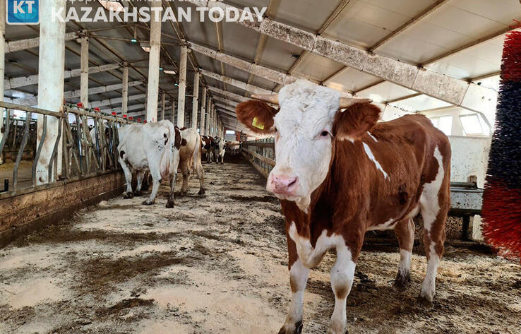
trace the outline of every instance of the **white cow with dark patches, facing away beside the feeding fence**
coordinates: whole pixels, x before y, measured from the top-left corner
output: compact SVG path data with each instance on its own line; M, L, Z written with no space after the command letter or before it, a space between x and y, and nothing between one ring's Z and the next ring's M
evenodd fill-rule
M181 131L172 122L163 120L157 123L131 124L126 126L125 135L118 145L119 163L126 179L124 198L132 198L132 171L136 170L138 187L145 172L152 176L152 193L143 202L153 204L162 179L170 181L170 194L167 208L174 207L174 187L177 167L179 166L179 148L183 143Z

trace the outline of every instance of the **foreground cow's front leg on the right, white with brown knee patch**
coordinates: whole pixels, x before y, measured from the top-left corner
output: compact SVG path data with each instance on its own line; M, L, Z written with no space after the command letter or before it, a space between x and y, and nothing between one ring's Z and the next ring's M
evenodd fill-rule
M363 239L361 239L363 240ZM335 294L335 309L329 323L328 334L347 333L346 301L354 281L355 263L360 245L340 243L337 245L337 261L331 269L331 289Z

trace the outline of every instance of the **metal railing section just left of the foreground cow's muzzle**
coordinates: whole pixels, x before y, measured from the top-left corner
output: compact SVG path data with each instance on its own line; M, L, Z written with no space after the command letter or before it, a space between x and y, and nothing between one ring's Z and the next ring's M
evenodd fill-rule
M241 151L264 177L268 177L275 166L275 138L243 141Z

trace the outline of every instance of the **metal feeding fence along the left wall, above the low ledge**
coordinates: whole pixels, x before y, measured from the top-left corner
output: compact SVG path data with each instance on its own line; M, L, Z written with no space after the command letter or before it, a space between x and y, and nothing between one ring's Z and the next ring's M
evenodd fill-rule
M3 153L7 148L13 158L12 177L1 174L4 189L0 189L0 198L27 193L56 182L76 181L120 169L116 149L119 144L118 129L133 122L131 117L117 117L114 112L112 115L102 114L99 109L85 109L71 104L64 105L64 112L52 112L0 102L0 115L3 133L0 157L6 157ZM51 120L54 123L52 125L49 124ZM41 129L38 129L40 124ZM47 167L48 181L42 182L42 179L37 179L37 164L44 144L49 145L48 141L45 143L45 138L49 136L51 126L53 131L57 128L57 136L54 143L50 143L52 154ZM41 133L39 141L37 133ZM30 155L25 154L25 160L29 157L28 160L32 161L30 172L24 170L26 177L19 182L20 162L28 147L33 148ZM61 159L58 158L59 154ZM57 172L59 162L60 174ZM11 166L8 166L5 170L10 169Z

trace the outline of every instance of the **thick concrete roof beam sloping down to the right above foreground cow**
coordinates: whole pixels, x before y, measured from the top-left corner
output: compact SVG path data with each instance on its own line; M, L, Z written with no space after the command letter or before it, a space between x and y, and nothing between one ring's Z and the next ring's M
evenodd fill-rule
M220 7L224 10L239 8L219 1L187 0L197 6ZM229 9L228 9L229 10ZM239 24L273 37L277 40L296 45L301 49L337 61L340 64L369 73L372 76L388 80L402 87L416 90L438 100L463 107L475 112L490 113L495 108L497 93L489 88L467 83L465 80L445 76L425 68L405 64L387 56L371 54L323 35L315 35L270 18L262 18L261 23L237 21ZM244 62L250 64L248 62ZM237 65L239 67L240 64ZM242 64L244 65L244 64Z

